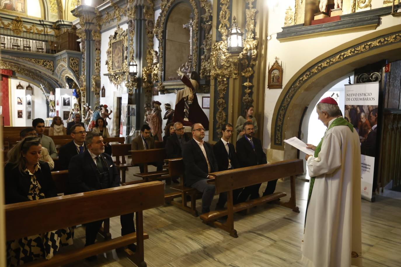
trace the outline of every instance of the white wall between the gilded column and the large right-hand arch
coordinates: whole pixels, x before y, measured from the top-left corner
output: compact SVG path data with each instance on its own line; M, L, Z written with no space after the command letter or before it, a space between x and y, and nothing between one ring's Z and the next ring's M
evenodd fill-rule
M267 32L272 36L267 42L267 64L270 66L274 63L275 57L279 58L279 62L283 63L283 88L286 87L289 80L306 64L310 63L320 55L338 47L339 45L352 41L358 37L372 33L375 30L363 30L359 32L330 32L328 36L318 36L310 38L302 38L294 41L279 42L276 37L277 32L281 32L281 27L284 26L285 10L288 8L286 4L278 4L268 12L268 27ZM381 24L376 30L382 30L394 25L398 25L399 18L393 16L381 17ZM266 40L262 40L265 42ZM300 53L302 51L302 53ZM268 68L266 68L268 71ZM266 73L267 74L267 73ZM266 75L267 76L267 75ZM267 84L267 81L266 81ZM270 148L271 140L271 123L273 119L273 111L277 99L282 92L282 89L266 89L265 91L265 131L263 134L263 147Z

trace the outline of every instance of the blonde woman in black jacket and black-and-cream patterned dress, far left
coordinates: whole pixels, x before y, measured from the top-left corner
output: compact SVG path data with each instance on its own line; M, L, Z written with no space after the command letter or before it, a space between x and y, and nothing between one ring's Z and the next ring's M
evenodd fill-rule
M24 138L8 152L4 167L6 204L57 196L49 165L39 160L41 152L41 139L36 136ZM69 228L7 241L7 266L51 259L62 245L72 243Z

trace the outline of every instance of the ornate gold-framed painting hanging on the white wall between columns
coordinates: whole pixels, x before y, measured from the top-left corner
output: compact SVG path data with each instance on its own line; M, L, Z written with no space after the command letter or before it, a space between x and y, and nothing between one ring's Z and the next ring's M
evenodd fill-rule
M128 74L127 63L128 33L119 26L109 36L109 47L106 51L107 76L114 85L121 85Z

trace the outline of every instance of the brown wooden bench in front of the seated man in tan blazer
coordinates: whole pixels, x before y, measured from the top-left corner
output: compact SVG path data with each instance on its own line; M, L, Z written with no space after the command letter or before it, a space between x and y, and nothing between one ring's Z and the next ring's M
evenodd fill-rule
M152 162L163 162L166 158L166 150L164 148L146 149L146 150L130 150L132 155L132 162L134 164L143 164L144 172L134 174L136 177L140 177L143 181L132 181L126 182L125 184L136 184L141 182L148 182L150 180L165 180L169 179L167 170L148 172L148 164ZM164 177L162 177L164 176Z

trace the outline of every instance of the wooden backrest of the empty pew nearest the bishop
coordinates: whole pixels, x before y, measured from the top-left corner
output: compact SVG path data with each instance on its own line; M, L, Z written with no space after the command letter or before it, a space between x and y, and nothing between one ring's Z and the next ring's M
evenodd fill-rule
M269 180L296 176L303 173L303 161L301 159L296 159L213 172L209 175L215 177L216 193L219 194L245 186L260 184Z

